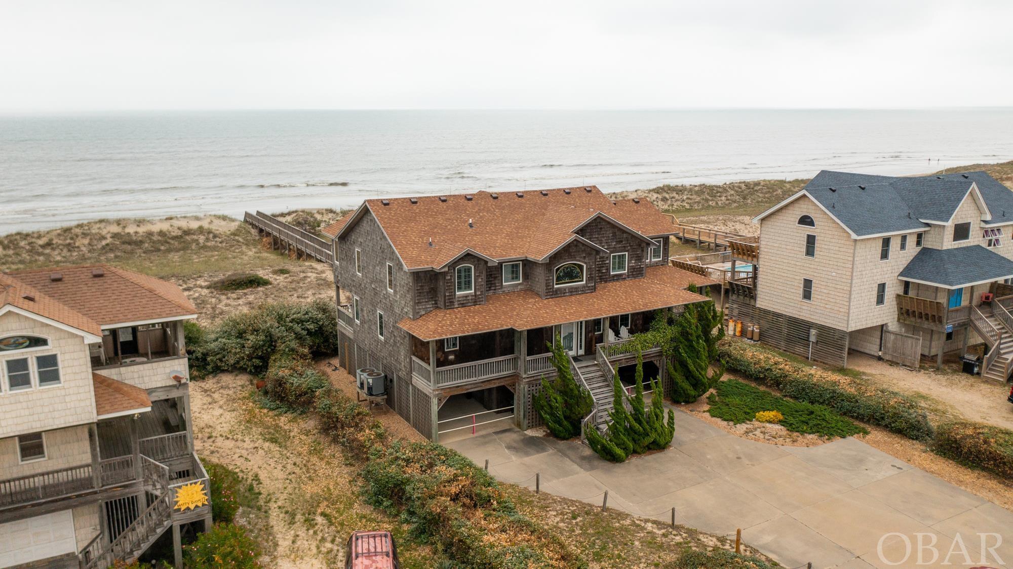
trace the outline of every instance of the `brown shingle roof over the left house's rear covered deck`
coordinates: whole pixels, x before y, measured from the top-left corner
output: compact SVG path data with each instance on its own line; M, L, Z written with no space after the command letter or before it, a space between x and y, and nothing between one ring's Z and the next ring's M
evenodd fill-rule
M59 272L63 278L53 280ZM101 276L96 274L101 273ZM99 325L174 318L197 308L172 282L107 264L7 273Z

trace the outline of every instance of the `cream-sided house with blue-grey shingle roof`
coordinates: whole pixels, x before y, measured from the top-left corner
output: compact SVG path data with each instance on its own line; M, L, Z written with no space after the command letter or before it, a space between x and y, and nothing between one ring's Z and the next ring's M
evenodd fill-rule
M944 353L984 341L985 375L1009 377L1011 305L982 304L982 294L1013 293L1013 191L986 172L825 170L754 223L762 254L741 260L756 265L756 279L732 291L732 307L823 327L844 340L845 361L849 349L893 355L900 334L920 337L920 348L913 338L906 345L940 364Z

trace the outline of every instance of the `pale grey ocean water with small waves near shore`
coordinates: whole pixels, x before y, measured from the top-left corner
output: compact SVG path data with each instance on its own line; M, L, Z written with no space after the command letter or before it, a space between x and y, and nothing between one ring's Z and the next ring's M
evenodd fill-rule
M1013 159L1013 107L0 116L0 233L364 197L914 174Z

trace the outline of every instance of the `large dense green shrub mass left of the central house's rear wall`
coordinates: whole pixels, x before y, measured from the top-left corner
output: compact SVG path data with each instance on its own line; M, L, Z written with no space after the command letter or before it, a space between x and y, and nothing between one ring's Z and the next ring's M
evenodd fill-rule
M191 368L203 374L267 371L276 351L334 353L337 350L337 314L333 301L277 303L223 320L208 330L194 348Z

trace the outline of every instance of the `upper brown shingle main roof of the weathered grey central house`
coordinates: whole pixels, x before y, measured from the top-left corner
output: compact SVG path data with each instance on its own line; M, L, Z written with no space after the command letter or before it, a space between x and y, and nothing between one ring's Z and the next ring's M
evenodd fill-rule
M674 232L672 220L646 199L613 201L593 185L367 199L366 206L409 269L443 266L468 249L493 259L543 259L599 212L644 236Z

